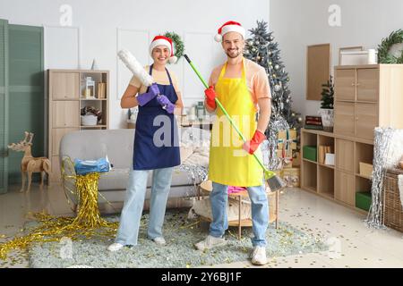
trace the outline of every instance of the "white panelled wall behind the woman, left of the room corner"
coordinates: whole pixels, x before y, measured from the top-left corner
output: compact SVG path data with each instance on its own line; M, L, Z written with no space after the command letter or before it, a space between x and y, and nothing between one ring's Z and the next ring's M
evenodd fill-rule
M70 28L60 26L63 4L73 9ZM219 26L234 20L251 29L257 20L269 21L269 1L0 0L0 19L12 24L45 26L46 68L90 69L95 58L99 69L109 70L110 128L117 129L125 126L126 113L120 108L118 93L127 85L125 80L119 80L118 86L117 70L121 76L128 75L122 75L127 71L116 63L116 52L118 47L133 45L130 35L139 37L142 51L147 49L145 42L150 38L167 30L175 31L182 36L186 52L207 78L212 67L224 59L219 44L213 42ZM181 81L185 106L202 99L201 84L184 59L169 68L176 71Z

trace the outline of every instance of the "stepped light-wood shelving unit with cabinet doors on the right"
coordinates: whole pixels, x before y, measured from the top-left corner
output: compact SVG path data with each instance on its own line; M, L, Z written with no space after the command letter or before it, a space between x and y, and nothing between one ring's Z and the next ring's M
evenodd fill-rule
M403 128L402 81L403 64L335 67L334 133L301 131L302 189L365 213L356 208L356 192L371 191L371 178L359 164L373 164L375 127ZM335 165L304 159L306 145L333 146Z

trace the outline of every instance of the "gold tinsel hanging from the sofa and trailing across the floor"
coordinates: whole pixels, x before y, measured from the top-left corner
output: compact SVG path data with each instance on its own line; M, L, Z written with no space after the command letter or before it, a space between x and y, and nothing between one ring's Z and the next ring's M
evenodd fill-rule
M90 239L94 235L114 237L118 223L109 223L100 217L98 208L99 173L73 176L79 198L76 217L54 217L49 214L33 214L39 226L26 235L0 244L0 259L5 259L13 249L26 249L34 242Z

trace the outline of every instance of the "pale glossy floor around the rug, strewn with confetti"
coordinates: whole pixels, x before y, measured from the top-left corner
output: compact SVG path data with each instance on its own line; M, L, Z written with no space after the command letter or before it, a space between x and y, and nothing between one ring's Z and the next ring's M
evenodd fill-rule
M0 242L21 231L28 212L46 210L54 215L72 215L62 189L54 185L29 194L18 186L0 195ZM279 218L312 235L325 237L330 251L272 257L265 267L403 267L403 233L372 230L363 214L302 189L287 189L280 197ZM28 267L26 254L13 253L0 267ZM254 267L249 261L215 267Z

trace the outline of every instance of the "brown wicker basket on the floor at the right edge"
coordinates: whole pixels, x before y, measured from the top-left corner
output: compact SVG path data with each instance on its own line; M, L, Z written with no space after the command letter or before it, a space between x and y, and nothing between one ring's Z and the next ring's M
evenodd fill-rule
M398 176L401 169L390 169L383 181L383 222L386 226L403 232L403 207L400 202Z

